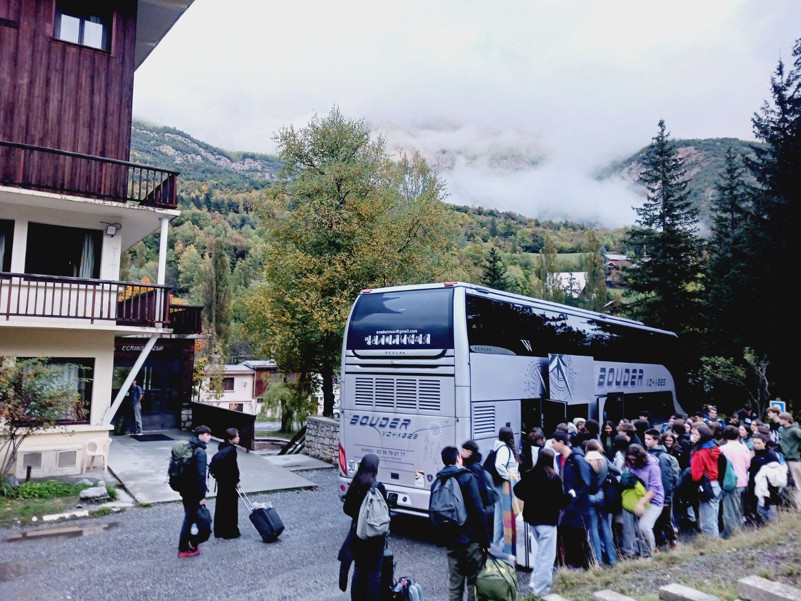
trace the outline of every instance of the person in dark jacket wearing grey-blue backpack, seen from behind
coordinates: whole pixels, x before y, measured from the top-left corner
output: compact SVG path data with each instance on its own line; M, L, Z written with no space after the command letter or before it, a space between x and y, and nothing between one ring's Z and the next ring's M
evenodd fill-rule
M437 530L437 545L448 550L449 601L475 598L475 583L489 549L489 531L481 493L455 446L441 452L445 467L431 485L429 517ZM454 486L455 485L455 486Z

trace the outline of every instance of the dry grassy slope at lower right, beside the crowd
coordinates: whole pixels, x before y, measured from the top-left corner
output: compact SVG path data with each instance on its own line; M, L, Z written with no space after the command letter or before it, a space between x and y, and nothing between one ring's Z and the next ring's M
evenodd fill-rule
M767 526L743 529L727 540L687 538L650 561L620 561L614 567L588 571L560 568L553 576L552 592L571 601L591 601L595 591L610 589L651 601L657 599L659 587L675 582L734 601L737 580L750 574L799 587L801 515L785 511ZM524 598L536 599L531 595Z

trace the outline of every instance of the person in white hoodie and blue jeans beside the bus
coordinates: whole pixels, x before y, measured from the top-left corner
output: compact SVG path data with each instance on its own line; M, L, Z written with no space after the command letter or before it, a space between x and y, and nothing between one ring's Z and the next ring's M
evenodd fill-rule
M498 430L498 438L493 446L493 451L495 453L494 471L497 474L497 478L493 474L493 484L498 493L498 500L495 503L493 546L503 547L507 555L514 555L516 540L512 489L514 484L520 480L520 456L515 449L514 430L511 427L504 426Z

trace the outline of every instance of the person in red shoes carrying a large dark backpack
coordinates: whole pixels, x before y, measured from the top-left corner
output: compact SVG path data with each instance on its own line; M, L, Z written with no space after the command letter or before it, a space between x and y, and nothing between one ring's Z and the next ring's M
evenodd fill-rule
M211 429L197 426L195 437L189 441L192 454L180 474L179 493L183 501L183 525L178 542L179 557L200 554L199 545L191 545L191 527L198 521L198 510L206 505L206 446L211 441Z

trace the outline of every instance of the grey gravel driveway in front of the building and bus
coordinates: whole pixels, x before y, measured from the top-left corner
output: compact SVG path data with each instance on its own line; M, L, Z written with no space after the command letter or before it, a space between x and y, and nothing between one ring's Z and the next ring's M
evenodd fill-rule
M337 587L336 553L348 530L336 495L336 470L301 472L317 490L256 495L252 500L276 506L286 530L277 543L258 538L240 504L242 537L211 538L199 557L178 559L180 503L129 509L122 514L70 522L112 526L80 538L10 543L18 529L0 530L2 599L314 599L345 601L350 591ZM214 510L214 501L209 506ZM425 598L447 598L448 563L423 532L427 522L398 516L389 544L396 576L421 583ZM98 529L99 530L99 529ZM403 534L400 534L400 533ZM518 572L521 590L528 575Z

